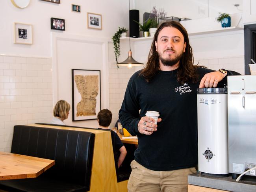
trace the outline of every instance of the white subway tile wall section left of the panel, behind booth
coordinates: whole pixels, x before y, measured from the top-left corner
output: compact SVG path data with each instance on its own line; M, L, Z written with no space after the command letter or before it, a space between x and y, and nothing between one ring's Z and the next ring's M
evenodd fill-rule
M13 126L52 118L52 59L0 56L0 151L11 150Z

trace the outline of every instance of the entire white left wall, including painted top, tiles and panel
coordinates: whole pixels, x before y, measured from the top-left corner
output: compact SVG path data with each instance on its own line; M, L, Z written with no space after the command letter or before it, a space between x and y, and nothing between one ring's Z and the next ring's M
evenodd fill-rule
M87 28L87 12L102 15L102 30ZM72 103L72 68L101 70L102 109L109 107L108 41L118 26L128 28L128 2L31 0L19 9L2 0L0 14L0 151L10 150L14 125L49 123L57 100ZM65 19L65 31L50 30L50 17ZM32 45L13 43L13 22L32 24ZM65 122L97 127L96 120L74 123L71 115Z

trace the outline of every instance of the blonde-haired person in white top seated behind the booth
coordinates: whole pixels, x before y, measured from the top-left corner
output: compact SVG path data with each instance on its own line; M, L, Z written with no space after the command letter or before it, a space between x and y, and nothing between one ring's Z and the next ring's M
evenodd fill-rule
M53 109L53 116L51 124L65 125L63 122L69 116L70 105L64 100L59 100Z

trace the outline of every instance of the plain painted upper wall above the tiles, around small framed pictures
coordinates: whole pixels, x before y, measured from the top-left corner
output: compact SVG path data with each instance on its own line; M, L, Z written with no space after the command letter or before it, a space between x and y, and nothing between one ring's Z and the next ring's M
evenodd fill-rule
M71 4L80 5L81 13L72 12ZM102 30L87 28L87 12L102 15ZM61 4L30 0L24 9L13 6L11 0L1 0L0 14L0 54L50 57L51 31L109 38L118 26L128 28L128 2L120 0L61 0ZM51 30L51 17L65 19L65 31ZM32 24L32 45L13 44L13 22Z

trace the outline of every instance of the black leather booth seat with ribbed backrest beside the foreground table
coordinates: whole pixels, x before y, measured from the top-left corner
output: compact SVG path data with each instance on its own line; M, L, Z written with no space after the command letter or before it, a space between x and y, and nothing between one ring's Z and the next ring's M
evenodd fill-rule
M55 160L33 179L0 181L0 189L15 192L89 191L95 134L33 126L15 126L11 153Z

